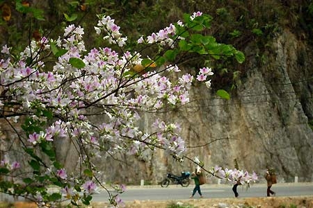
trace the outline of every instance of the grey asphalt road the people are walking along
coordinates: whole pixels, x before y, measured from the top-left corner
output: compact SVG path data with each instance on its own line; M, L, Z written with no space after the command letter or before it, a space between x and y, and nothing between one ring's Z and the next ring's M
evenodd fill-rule
M266 196L266 184L254 184L249 189L239 186L237 191L240 198L253 198ZM233 198L231 185L208 185L201 186L204 198ZM313 183L286 183L274 184L272 190L276 196L313 196ZM191 196L193 184L189 187L170 186L162 187L130 187L120 195L124 201L131 200L184 200ZM93 201L104 202L108 200L108 193L101 191L93 195ZM194 198L199 198L195 193Z

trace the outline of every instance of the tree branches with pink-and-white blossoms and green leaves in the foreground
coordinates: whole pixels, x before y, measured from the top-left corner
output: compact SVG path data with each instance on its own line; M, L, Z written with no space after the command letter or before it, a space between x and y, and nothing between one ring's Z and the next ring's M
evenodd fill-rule
M93 193L102 187L109 193L111 204L118 206L122 202L119 194L125 191L125 186L113 186L112 192L101 182L93 164L100 153L145 158L161 149L179 161L188 158L184 156L186 146L178 123L156 118L151 129L145 130L138 122L143 112L188 103L193 82L211 86L210 77L214 73L209 66L199 69L196 78L179 69L177 64L189 53L211 58L234 56L243 62L243 54L233 46L202 35L211 26L210 21L209 15L195 12L184 15L184 22L177 21L158 33L140 37L138 45L143 46L142 50L157 46L153 58L143 58L141 51L127 51L127 37L120 33L115 20L106 15L99 15L95 26L96 33L103 35L104 48L86 51L83 28L74 25L67 26L63 37L57 40L48 37L31 40L18 58L13 58L10 47L3 46L0 107L7 112L2 117L14 130L22 123L23 136L19 136L21 131L15 133L28 155L23 168L31 171L22 180L0 183L0 190L28 196L40 206L61 201L79 206L80 202L89 205ZM118 51L111 49L111 45ZM47 67L52 55L54 66ZM97 115L101 121L94 118ZM13 121L19 123L13 125ZM69 173L56 157L54 142L63 140L70 141L77 152L77 173ZM19 162L3 159L0 175L13 177L13 172L22 169L20 166ZM230 175L218 170L207 172L216 177ZM38 182L43 187L20 188L21 184L33 187ZM61 191L50 193L48 184Z

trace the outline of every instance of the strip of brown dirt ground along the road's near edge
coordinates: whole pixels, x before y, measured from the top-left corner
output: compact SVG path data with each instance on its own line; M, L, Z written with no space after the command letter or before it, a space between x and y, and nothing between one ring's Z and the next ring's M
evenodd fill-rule
M295 197L264 197L264 198L223 198L223 199L190 199L173 201L138 201L127 202L125 207L129 208L166 208L170 204L190 205L200 208L313 208L313 196ZM107 207L105 204L97 203L92 207ZM178 206L177 206L178 208Z

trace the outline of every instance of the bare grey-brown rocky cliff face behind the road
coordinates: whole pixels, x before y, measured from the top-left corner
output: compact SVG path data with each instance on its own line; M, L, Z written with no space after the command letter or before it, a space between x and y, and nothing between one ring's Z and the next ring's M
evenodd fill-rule
M230 101L198 86L190 104L164 118L182 123L188 157L199 156L207 168L234 168L236 158L239 168L256 171L261 180L271 167L281 182L293 182L295 176L301 182L312 181L313 132L308 121L313 119L313 54L290 31L278 35L272 49L261 64L253 46L246 47L248 73ZM147 119L145 128L151 123ZM123 159L131 166L106 160L104 168L114 170L107 175L109 180L138 184L143 178L154 183L167 171L178 174L194 168L191 162L177 163L162 152L145 163Z

